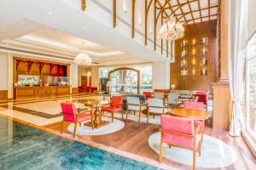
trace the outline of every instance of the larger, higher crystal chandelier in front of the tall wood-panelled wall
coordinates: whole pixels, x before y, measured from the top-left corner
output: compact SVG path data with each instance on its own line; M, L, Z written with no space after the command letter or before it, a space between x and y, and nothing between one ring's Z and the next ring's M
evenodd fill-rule
M177 40L184 37L184 27L176 21L174 16L166 19L165 24L161 26L159 31L160 37L164 40Z

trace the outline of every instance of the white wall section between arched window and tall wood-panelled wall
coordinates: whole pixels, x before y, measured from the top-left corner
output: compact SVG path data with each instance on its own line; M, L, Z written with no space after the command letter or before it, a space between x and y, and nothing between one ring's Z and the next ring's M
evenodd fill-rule
M153 63L153 88L170 89L170 62Z

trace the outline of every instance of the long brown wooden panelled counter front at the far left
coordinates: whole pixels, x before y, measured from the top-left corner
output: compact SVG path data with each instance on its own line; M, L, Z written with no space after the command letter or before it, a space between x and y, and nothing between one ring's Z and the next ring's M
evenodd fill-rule
M14 99L45 98L70 94L70 86L14 87Z

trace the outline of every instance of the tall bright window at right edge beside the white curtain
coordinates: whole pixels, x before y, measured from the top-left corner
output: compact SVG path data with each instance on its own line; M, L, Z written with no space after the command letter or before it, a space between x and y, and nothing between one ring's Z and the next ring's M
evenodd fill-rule
M247 44L246 65L247 132L256 141L256 34Z

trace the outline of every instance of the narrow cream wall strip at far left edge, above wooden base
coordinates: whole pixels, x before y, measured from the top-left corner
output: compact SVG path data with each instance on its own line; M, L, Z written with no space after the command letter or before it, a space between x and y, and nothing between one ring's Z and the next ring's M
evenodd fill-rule
M8 55L0 54L0 90L8 90Z

